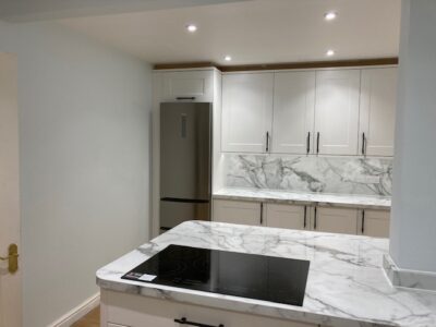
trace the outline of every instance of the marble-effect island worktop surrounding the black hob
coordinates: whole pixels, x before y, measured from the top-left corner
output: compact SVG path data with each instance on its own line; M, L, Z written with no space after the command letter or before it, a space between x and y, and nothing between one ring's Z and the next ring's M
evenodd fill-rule
M121 279L169 244L311 261L303 306ZM187 221L97 271L104 289L335 327L436 326L436 292L393 288L387 239Z

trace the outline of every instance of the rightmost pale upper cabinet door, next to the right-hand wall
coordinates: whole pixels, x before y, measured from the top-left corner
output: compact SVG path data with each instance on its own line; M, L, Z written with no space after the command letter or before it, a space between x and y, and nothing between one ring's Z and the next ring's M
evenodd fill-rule
M359 133L362 155L393 156L396 106L397 69L363 70Z

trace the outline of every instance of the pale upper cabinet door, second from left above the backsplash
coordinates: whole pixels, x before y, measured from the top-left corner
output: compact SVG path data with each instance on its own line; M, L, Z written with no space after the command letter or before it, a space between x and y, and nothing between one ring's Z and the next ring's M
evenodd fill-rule
M315 72L276 73L272 153L313 153Z

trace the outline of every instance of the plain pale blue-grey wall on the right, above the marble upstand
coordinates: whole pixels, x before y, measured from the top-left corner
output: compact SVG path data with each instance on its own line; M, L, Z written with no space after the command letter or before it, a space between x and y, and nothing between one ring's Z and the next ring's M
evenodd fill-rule
M436 271L436 1L403 0L390 254Z

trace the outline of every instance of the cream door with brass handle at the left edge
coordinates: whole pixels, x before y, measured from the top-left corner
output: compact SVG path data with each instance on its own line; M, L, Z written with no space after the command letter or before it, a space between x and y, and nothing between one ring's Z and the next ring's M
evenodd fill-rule
M19 114L16 58L0 53L0 256L20 250ZM19 262L20 263L20 262ZM21 272L0 261L0 327L20 327ZM20 264L19 264L20 267Z

